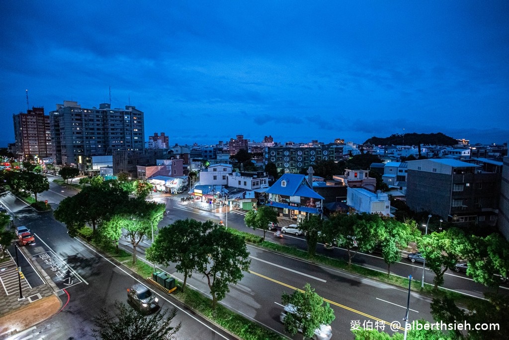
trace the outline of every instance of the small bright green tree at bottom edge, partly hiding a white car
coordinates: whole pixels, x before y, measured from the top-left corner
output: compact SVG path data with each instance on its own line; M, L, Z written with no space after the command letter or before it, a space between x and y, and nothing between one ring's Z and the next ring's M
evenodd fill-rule
M317 328L329 325L335 319L329 303L324 302L309 283L306 283L303 291L297 290L291 295L283 293L281 301L293 311L287 312L283 320L286 331L292 335L301 331L303 338L311 338Z

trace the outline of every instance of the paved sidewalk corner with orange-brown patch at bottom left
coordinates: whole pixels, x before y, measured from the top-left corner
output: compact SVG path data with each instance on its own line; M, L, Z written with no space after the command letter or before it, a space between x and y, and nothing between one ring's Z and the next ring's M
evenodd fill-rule
M32 255L28 251L22 247L20 250L25 252L27 258L31 260ZM0 270L16 272L16 267L8 268L7 264L0 264ZM56 286L51 284L53 282L39 270L36 263L32 264L43 276L45 283L37 287L23 289L21 291L23 299L19 299L19 291L15 294L7 294L6 284L12 285L12 283L0 280L2 281L2 287L0 287L0 339L29 330L32 326L51 318L62 308L62 301L55 293ZM48 280L51 282L49 283Z

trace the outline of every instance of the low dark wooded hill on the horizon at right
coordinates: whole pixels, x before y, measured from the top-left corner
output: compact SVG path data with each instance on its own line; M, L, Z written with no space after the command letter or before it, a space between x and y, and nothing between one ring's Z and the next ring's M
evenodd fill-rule
M371 137L364 144L373 145L456 145L458 141L452 137L438 134L396 134L390 137Z

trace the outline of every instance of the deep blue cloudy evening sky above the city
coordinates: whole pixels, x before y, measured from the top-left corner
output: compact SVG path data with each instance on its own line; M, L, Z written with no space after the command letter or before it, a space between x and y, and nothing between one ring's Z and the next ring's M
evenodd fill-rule
M507 1L0 2L1 145L12 115L75 100L211 144L509 140Z

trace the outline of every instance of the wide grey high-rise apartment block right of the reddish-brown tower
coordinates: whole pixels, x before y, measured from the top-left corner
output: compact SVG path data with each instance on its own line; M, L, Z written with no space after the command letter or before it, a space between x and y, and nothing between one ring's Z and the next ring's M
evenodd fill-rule
M133 106L111 109L103 103L83 109L66 100L56 104L49 121L56 164L75 165L83 173L92 169L92 156L144 150L144 113Z

